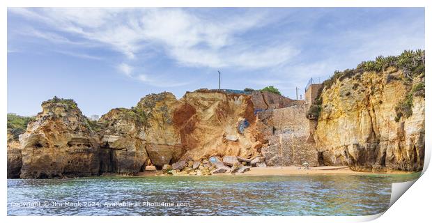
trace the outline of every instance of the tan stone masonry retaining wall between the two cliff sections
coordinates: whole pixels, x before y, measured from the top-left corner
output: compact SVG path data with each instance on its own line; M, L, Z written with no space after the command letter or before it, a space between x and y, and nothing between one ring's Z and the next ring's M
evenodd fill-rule
M267 146L261 149L269 166L301 166L304 162L318 166L318 151L310 138L309 105L293 105L259 112L266 132Z

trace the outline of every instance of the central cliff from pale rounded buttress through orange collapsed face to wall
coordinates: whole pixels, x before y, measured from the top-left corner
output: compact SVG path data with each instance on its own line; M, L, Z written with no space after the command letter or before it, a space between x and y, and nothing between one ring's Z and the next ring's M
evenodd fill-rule
M251 157L261 146L247 95L200 90L176 100L164 92L141 98L135 108L146 116L143 141L157 168L212 155ZM245 123L240 131L239 125Z

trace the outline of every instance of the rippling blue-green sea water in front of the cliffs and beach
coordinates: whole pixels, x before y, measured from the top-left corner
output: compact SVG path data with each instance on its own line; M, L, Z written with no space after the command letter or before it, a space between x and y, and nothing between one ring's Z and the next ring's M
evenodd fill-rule
M373 215L403 175L8 179L8 215Z

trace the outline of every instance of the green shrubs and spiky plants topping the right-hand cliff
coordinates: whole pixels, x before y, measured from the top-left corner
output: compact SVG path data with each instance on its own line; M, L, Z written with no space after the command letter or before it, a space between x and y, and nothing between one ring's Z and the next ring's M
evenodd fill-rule
M412 114L412 96L424 97L424 66L425 66L425 51L423 49L417 50L405 50L399 56L378 56L375 61L363 61L355 69L346 69L344 71L336 70L330 79L327 79L318 89L318 95L313 105L309 108L308 114L314 114L318 118L321 113L321 105L323 104L323 98L321 94L325 89L330 89L337 80L342 81L345 78L360 79L363 72L383 72L389 67L397 68L403 71L404 79L408 86L411 87L410 93L406 95L406 98L394 108L396 112L395 121L399 121L401 116L409 117ZM414 79L419 77L422 81L415 84ZM387 80L391 81L391 80ZM358 86L358 85L357 85ZM353 86L353 89L357 89L357 86Z

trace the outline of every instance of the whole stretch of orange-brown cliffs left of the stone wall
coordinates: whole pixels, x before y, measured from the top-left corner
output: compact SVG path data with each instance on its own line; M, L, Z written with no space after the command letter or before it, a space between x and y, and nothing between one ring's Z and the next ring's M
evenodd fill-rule
M43 112L8 143L8 177L137 174L212 155L253 157L261 148L250 97L215 91L147 95L131 109L89 121L73 100L43 102Z

